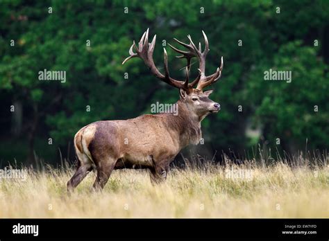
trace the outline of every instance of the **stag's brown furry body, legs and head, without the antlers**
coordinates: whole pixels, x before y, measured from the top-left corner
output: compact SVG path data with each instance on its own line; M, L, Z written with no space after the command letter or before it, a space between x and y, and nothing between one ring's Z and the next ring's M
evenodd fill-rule
M189 144L201 139L201 120L218 111L202 92L182 92L178 115L146 114L128 120L103 120L83 127L74 137L79 165L67 184L73 190L96 166L94 189L105 186L113 169L148 168L151 181L166 179L169 164ZM197 98L197 101L196 101ZM218 105L218 104L217 104Z

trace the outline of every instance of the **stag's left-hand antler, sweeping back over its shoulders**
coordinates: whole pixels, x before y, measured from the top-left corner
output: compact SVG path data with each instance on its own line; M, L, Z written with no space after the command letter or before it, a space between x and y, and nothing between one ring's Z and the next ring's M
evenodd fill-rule
M163 82L166 82L167 84L170 84L172 87L176 87L178 89L182 88L185 89L185 91L189 91L192 89L192 84L189 84L189 78L188 78L188 70L186 69L186 79L185 81L175 80L174 78L171 78L169 76L169 68L168 68L168 56L167 51L165 48L163 48L164 51L164 64L165 64L165 75L160 73L160 71L157 69L157 67L154 64L153 61L153 51L155 46L155 39L156 35L154 35L153 40L151 43L149 43L149 28L147 28L146 32L142 35L142 38L140 39L140 42L138 43L138 48L135 44L135 40L133 41L133 45L129 49L130 56L122 62L124 64L128 60L130 60L133 57L140 57L142 60L144 60L144 63L146 66L149 67L151 73L158 77ZM136 53L134 53L133 48L135 48ZM194 80L194 82L199 82L201 75Z

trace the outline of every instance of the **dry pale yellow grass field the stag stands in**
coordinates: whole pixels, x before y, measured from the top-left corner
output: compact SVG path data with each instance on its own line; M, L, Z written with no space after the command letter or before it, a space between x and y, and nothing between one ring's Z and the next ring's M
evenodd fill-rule
M26 180L0 181L0 217L329 217L328 166L253 163L171 168L153 186L144 170L115 170L103 192L91 172L67 196L73 168L26 169Z

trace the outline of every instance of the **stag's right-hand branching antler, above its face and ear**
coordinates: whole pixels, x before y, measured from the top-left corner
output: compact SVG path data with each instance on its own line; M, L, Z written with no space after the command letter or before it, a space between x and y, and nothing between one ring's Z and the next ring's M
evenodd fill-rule
M187 70L189 71L191 67L191 59L192 57L197 57L199 60L199 80L194 80L191 85L192 87L196 86L196 89L199 89L202 91L203 88L207 87L210 84L213 84L221 77L221 71L223 69L223 57L221 57L221 66L217 68L217 71L213 73L212 75L205 76L205 58L207 57L207 54L209 52L209 43L207 35L205 35L205 32L203 32L203 37L205 39L205 50L202 52L201 50L201 43L199 42L199 49L196 48L194 42L192 41L192 38L190 35L187 35L187 38L189 39L189 44L185 44L183 42L180 42L178 39L175 39L178 44L183 45L185 48L187 48L189 51L182 51L178 48L175 48L174 46L169 46L174 49L174 51L181 53L181 56L177 56L179 58L186 58L187 59Z

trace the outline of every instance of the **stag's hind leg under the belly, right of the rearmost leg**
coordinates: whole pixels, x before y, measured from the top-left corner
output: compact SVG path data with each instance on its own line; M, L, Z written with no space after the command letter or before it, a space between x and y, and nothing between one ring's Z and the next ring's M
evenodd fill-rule
M111 157L96 162L97 177L92 186L93 190L98 191L104 188L110 178L112 170L115 168L115 163L117 163L117 159Z

